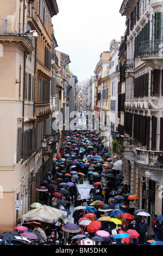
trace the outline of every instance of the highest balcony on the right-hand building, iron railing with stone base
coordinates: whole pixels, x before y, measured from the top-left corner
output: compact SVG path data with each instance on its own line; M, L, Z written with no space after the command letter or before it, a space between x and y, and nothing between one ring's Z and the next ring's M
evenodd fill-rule
M162 68L162 46L162 39L142 41L138 50L140 59L145 61L151 68L153 68L154 65L158 65L158 68Z

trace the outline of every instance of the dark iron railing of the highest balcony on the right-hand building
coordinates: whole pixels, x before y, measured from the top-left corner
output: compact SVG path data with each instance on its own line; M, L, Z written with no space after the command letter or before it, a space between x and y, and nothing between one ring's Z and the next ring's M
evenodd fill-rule
M139 56L156 55L162 53L163 40L142 41L138 51Z

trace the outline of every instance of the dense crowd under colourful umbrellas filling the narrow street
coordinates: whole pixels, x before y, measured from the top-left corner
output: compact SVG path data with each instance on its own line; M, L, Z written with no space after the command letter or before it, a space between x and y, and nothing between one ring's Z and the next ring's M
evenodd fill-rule
M41 204L67 211L67 217L36 227L23 223L39 235L39 240L30 245L80 245L84 239L90 239L96 245L149 244L146 237L148 217L137 214L148 211L136 208L137 196L130 193L129 184L119 170L112 169L113 165L95 131L69 132L61 144L60 153L53 159L53 171L47 173L47 180L41 181L48 192L40 192ZM89 197L79 199L77 184L92 185ZM129 199L129 196L135 198ZM153 241L163 243L163 225L155 218ZM84 220L85 224L82 224ZM97 230L96 224L90 230L89 224L93 222L100 223ZM78 225L78 233L66 229L67 224ZM134 233L128 233L130 230ZM97 231L104 231L105 235L98 235Z

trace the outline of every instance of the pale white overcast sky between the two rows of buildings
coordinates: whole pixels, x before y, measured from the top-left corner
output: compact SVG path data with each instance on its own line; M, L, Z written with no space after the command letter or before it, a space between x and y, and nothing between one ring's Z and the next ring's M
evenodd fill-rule
M123 0L57 0L59 13L52 18L56 50L68 54L70 70L82 82L93 71L112 39L121 40L126 17L120 14Z

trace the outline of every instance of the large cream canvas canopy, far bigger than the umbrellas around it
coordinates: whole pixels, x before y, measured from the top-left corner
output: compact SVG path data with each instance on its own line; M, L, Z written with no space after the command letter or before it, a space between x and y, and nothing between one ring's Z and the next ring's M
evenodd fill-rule
M42 205L39 208L30 210L27 214L21 216L23 221L42 221L46 223L58 221L60 217L66 218L67 212L47 205Z

